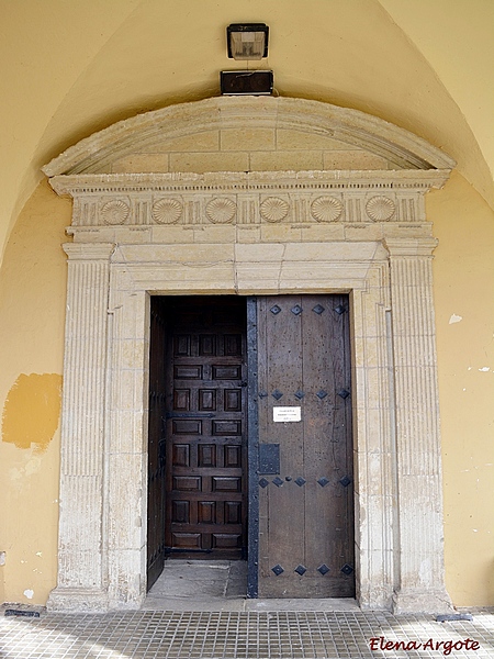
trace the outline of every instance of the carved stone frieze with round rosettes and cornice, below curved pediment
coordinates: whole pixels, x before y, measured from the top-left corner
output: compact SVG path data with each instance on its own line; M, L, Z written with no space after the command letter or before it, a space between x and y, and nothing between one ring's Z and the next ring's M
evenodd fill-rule
M232 172L82 175L56 177L52 185L74 197L74 227L372 226L425 222L424 193L446 178L438 170L380 171L374 177L366 171L265 171L235 179Z

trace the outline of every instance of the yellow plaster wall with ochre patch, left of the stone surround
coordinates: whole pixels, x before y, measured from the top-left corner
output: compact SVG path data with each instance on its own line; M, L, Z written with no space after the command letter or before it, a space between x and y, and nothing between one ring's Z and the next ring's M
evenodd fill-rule
M69 223L70 203L40 183L0 270L0 603L44 604L56 583Z

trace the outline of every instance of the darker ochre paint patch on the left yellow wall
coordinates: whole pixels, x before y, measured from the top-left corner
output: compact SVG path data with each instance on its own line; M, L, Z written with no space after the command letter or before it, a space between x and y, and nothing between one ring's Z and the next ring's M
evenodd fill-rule
M2 414L2 439L43 453L58 427L61 376L22 373L12 384Z

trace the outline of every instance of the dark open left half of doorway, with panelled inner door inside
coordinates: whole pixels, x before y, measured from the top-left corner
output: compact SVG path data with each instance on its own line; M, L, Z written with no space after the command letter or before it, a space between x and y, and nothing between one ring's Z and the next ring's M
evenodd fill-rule
M246 300L150 301L148 589L168 559L247 558Z

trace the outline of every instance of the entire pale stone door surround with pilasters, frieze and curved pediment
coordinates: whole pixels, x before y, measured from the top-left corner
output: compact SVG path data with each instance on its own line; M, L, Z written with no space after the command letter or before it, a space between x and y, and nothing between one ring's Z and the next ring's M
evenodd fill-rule
M358 601L448 608L424 196L452 166L360 112L222 97L120 122L44 168L74 199L52 608L146 592L149 295L295 292L350 294Z

